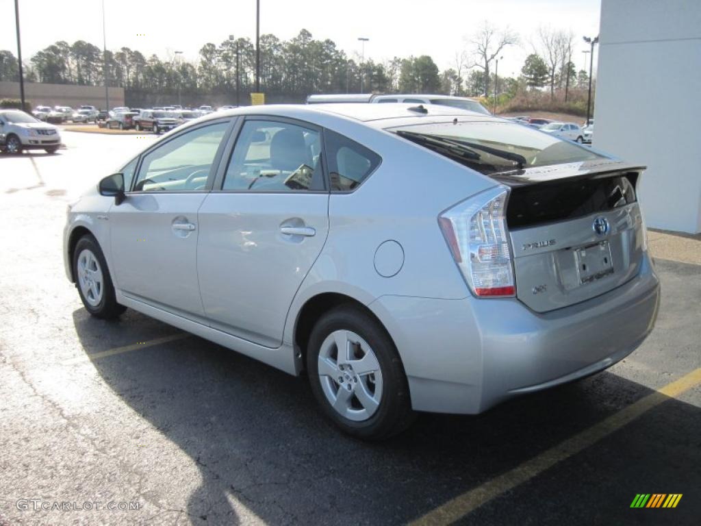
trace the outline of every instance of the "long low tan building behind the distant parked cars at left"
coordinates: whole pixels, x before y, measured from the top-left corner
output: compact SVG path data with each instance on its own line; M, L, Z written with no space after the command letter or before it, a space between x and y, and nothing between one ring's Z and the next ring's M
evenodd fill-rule
M19 82L0 82L0 99L20 98ZM82 104L90 104L104 109L104 86L77 86L76 84L44 84L38 82L25 82L25 100L32 103L32 107L46 106L70 106L76 107ZM109 109L124 105L124 88L109 88Z

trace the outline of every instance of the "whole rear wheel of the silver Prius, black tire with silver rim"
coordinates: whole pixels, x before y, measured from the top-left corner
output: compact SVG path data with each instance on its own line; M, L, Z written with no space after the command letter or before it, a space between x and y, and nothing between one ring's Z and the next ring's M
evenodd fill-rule
M399 353L366 311L339 306L322 316L309 337L306 360L322 412L349 435L383 440L414 422Z

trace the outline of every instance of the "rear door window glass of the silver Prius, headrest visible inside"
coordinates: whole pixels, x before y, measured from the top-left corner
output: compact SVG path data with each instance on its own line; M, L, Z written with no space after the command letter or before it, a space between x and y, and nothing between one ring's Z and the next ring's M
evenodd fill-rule
M325 189L321 134L297 124L246 121L226 167L222 190Z

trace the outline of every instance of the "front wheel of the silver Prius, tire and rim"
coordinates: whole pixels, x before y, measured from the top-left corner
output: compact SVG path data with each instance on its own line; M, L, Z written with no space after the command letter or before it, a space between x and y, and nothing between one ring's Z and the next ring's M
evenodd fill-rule
M90 234L76 243L73 275L83 306L95 318L118 318L126 310L116 301L107 262L97 240Z

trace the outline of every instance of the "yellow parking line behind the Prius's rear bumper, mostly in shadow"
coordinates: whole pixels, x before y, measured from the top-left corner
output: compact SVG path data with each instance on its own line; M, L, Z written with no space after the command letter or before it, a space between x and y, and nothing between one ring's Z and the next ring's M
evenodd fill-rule
M598 424L594 424L590 428L551 447L549 450L525 461L512 470L488 480L479 487L475 487L468 492L458 495L458 497L438 506L433 511L429 511L426 515L414 520L414 522L410 524L435 525L454 522L479 508L479 506L482 506L482 504L485 504L487 501L512 490L518 485L543 473L543 471L551 468L555 464L568 459L573 454L577 454L594 443L597 443L602 438L606 438L606 436L614 431L618 431L618 429L629 424L632 420L637 419L637 417L641 416L644 412L660 405L665 400L676 398L699 384L701 384L701 367L693 370L688 375L681 377L675 382L667 384L662 387L662 389L648 394L632 405L624 407L622 410L612 414Z

